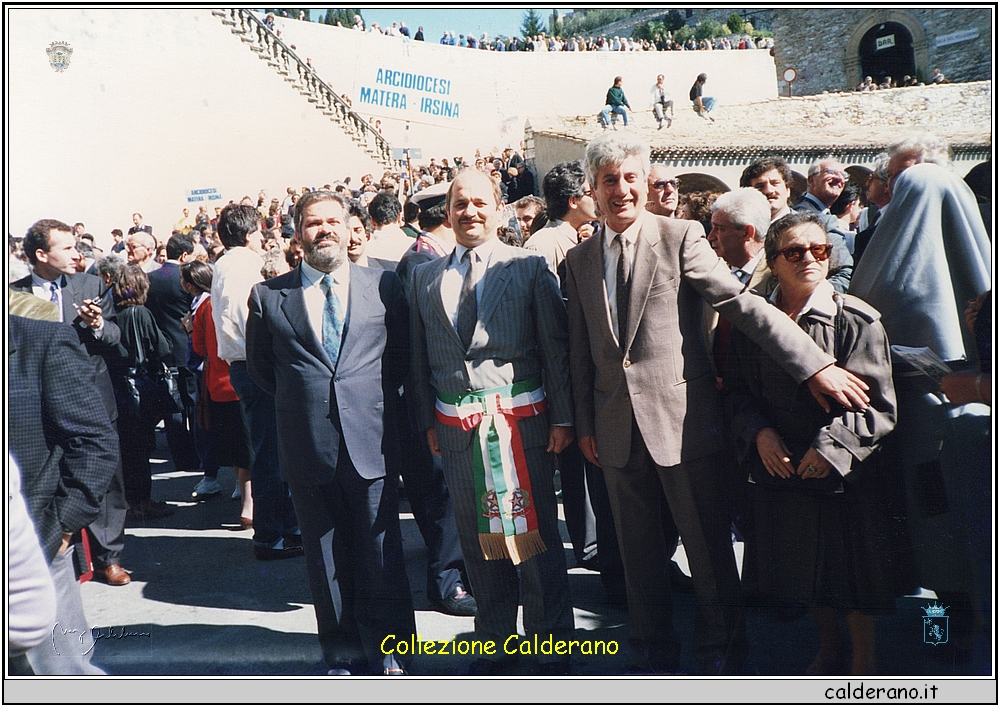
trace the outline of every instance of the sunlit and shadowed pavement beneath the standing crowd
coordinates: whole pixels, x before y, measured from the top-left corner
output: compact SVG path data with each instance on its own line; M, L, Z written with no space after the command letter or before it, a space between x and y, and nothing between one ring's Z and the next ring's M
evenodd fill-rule
M167 459L162 435L156 455ZM133 676L321 676L326 666L316 640L303 558L259 562L252 552L252 531L239 526L240 505L230 500L236 479L223 469L223 492L191 502L200 478L171 471L168 461L153 464L153 498L166 500L174 515L139 523L129 515L124 566L132 583L82 586L88 622L108 636L98 640L94 663L110 675ZM435 611L424 591L425 551L413 516L403 503L400 523L407 573L413 592L417 631L424 640L471 639L473 619ZM572 551L563 526L567 560ZM738 550L742 548L738 547ZM678 552L678 555L681 555ZM681 558L682 567L686 563ZM627 647L627 613L603 600L597 573L582 568L569 574L577 638L605 641L613 655L574 655L574 675L625 675L632 661ZM956 663L951 646L922 640L922 606L927 599L897 601L896 612L878 617L877 640L883 675L989 675L988 636L981 638L968 663ZM681 669L696 674L691 653L694 600L679 594L674 620L681 638ZM126 633L145 635L121 635ZM779 615L760 608L747 613L750 656L746 675L798 675L812 662L818 643L807 611ZM118 637L121 636L121 637ZM845 635L846 640L846 635ZM415 658L411 672L423 676L464 675L473 658L462 655ZM526 675L532 660L522 661Z

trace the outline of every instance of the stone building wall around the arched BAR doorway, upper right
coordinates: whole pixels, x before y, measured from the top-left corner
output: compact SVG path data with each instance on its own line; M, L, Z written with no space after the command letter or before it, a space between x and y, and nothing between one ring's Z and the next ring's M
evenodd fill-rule
M898 22L913 36L917 76L929 80L940 68L950 81L978 81L992 75L993 31L989 9L843 8L836 11L772 10L775 68L798 71L796 95L852 91L864 78L858 43L872 27ZM939 38L976 31L978 36L938 47ZM881 77L877 77L881 78ZM897 77L898 78L898 77Z

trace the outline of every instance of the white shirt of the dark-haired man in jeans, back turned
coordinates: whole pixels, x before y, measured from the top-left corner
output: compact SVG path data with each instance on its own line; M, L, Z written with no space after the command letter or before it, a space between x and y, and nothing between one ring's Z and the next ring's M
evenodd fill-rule
M247 300L264 277L264 259L250 248L230 248L215 263L212 278L212 319L219 340L219 358L226 363L247 358Z

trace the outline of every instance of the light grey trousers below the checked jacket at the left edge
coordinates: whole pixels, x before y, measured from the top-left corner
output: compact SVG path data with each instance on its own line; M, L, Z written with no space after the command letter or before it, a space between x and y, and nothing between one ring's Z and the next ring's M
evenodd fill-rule
M56 623L50 639L27 651L28 662L36 675L104 675L90 662L94 636L83 613L80 584L73 567L73 546L49 563L56 589Z

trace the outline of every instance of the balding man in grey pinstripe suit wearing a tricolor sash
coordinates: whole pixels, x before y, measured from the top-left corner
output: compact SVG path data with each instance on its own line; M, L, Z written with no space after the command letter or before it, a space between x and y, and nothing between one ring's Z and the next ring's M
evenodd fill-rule
M413 404L441 455L476 637L499 648L516 635L520 596L528 635L558 639L573 630L551 454L573 439L566 310L545 259L497 239L496 182L467 170L446 204L455 251L414 268L408 290ZM507 669L509 656L492 658L470 672ZM568 662L540 668L565 674Z

